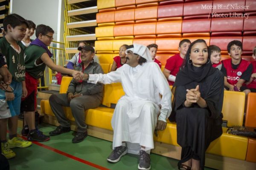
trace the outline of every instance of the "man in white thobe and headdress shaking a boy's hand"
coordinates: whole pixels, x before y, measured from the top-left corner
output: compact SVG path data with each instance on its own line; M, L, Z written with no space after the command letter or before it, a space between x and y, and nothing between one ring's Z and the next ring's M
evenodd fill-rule
M113 151L107 160L117 162L127 152L140 153L138 169L149 170L154 129L156 126L157 130L166 128L166 118L172 110L171 90L146 46L133 44L125 52L126 64L116 71L85 74L84 79L95 84L122 83L125 95L117 102L111 120Z

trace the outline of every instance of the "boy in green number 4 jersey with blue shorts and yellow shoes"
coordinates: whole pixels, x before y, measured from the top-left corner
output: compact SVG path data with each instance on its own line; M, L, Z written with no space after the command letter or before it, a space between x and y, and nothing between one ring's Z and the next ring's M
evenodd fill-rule
M0 49L6 58L9 72L12 74L12 83L8 92L0 89L0 100L6 100L7 105L0 112L0 140L2 153L6 158L12 158L15 153L10 149L14 147L29 147L32 143L17 137L17 116L20 114L21 97L26 97L24 53L17 44L25 36L28 24L23 17L10 14L3 20L5 37L0 39ZM14 99L11 97L14 96ZM13 100L12 100L13 99ZM9 127L9 140L6 140L7 122Z

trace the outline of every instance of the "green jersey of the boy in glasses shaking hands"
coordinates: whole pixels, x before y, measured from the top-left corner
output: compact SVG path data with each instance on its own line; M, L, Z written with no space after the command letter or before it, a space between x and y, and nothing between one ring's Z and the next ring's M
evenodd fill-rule
M36 61L41 61L41 56L46 52L41 46L30 45L25 50L25 66L26 72L33 78L41 78L44 76L45 63L37 64Z

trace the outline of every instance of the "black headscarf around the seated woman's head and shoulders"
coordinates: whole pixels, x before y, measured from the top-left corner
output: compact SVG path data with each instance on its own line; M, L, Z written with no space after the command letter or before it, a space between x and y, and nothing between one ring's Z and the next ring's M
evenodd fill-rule
M213 72L215 72L215 68L212 67L212 63L210 61L210 50L208 49L208 59L207 63L201 66L201 68L194 69L192 64L189 64L189 57L191 53L191 48L195 43L207 43L205 40L198 39L192 42L189 46L188 51L186 52L186 55L184 57L183 64L181 66L180 72L177 73L176 80L173 86L184 86L186 84L189 84L193 81L200 82L204 80L204 78L208 77L209 75L212 75Z

